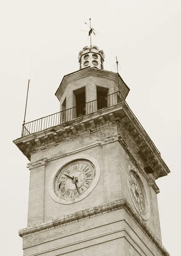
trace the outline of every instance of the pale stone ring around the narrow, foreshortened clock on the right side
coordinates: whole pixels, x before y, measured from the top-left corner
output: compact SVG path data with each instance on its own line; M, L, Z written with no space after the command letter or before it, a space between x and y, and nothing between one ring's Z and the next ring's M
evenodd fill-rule
M134 195L133 195L133 192L131 191L130 183L129 183L130 173L135 175L136 179L138 180L139 187L141 188L141 193L144 197L144 212L142 212L139 209L138 203L136 203L136 201L133 198ZM148 220L149 219L149 201L148 201L147 191L145 189L143 180L141 179L141 175L138 175L138 170L134 166L129 166L129 172L127 173L127 182L128 182L128 187L129 187L129 195L132 199L132 203L133 203L136 211L144 220Z

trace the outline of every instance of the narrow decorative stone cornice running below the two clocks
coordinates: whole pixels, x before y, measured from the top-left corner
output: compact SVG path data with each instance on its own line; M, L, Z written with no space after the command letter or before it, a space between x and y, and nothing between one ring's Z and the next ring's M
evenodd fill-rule
M167 252L167 250L164 248L164 246L156 239L154 234L149 230L147 225L142 221L141 217L139 217L132 207L128 204L126 199L116 200L109 202L107 204L102 204L90 209L86 209L80 212L75 212L70 215L65 215L63 218L57 218L52 221L47 221L45 223L36 224L34 226L27 227L25 229L19 230L19 236L23 237L32 233L40 232L42 230L48 230L55 227L60 227L62 225L65 225L67 223L79 221L80 219L86 219L90 218L94 215L101 215L102 213L118 210L118 209L126 209L126 212L129 213L129 215L132 216L136 224L141 228L141 230L149 237L149 239L155 244L155 246L158 248L158 250L162 253L164 256L169 256L170 254Z

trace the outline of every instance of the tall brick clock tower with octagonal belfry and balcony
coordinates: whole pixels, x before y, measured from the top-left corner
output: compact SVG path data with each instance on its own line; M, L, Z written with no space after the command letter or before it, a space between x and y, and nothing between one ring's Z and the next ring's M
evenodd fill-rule
M30 161L24 256L169 256L158 186L170 171L104 52L84 47L63 77L60 112L23 124L14 143Z

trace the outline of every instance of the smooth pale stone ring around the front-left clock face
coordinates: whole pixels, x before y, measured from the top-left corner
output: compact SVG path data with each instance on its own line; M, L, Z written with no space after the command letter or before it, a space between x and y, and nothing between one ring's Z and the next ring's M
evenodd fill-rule
M75 198L60 198L55 194L55 179L56 179L57 175L60 174L61 170L65 169L66 166L68 167L69 165L71 165L71 163L74 163L77 161L84 161L84 162L87 162L88 164L90 164L92 167L94 166L95 177L94 177L92 183L90 184L89 188L86 189L86 191L82 195L75 197ZM95 160L94 157L87 156L87 155L86 156L80 155L79 157L72 158L71 160L61 161L61 163L62 163L61 166L59 166L59 168L56 169L52 173L52 176L49 181L49 195L51 196L51 198L60 204L73 204L73 203L76 203L76 202L86 198L86 196L88 196L92 192L92 190L95 188L95 186L97 185L100 174L101 174L101 169L100 169L98 161Z

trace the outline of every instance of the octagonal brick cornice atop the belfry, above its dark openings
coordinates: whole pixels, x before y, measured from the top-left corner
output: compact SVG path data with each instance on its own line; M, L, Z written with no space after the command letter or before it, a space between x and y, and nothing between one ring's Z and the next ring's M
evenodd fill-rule
M55 96L60 101L63 95L63 92L69 83L71 83L72 81L83 79L83 78L88 78L89 76L97 76L104 79L114 80L115 83L119 84L119 87L121 87L121 93L124 99L126 99L126 96L129 93L129 87L125 84L121 76L118 73L107 71L107 70L101 70L96 67L85 67L81 70L77 70L73 73L63 76L60 86L58 87L55 93Z

